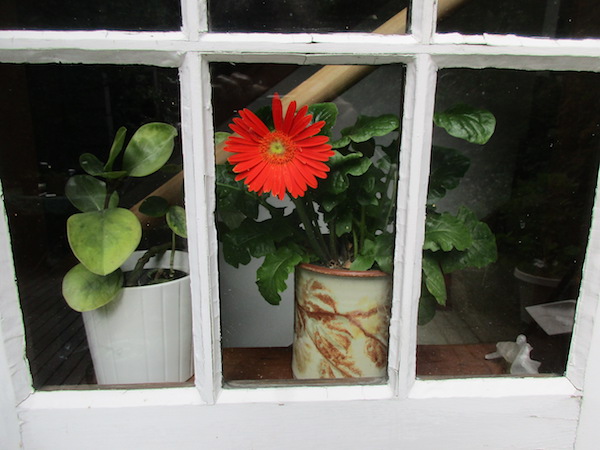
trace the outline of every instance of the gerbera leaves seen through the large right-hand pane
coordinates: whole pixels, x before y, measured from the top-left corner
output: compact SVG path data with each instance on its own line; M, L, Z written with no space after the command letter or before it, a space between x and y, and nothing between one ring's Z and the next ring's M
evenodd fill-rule
M434 124L450 136L483 145L494 133L496 119L489 111L457 105L436 113ZM432 149L423 244L423 287L419 302L420 324L434 317L438 305L446 304L447 274L470 267L482 268L498 257L494 234L471 209L462 205L455 214L437 211L437 203L449 190L458 187L469 166L469 158L458 150L439 146Z

